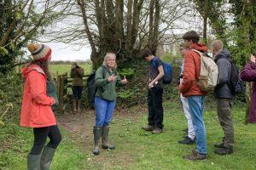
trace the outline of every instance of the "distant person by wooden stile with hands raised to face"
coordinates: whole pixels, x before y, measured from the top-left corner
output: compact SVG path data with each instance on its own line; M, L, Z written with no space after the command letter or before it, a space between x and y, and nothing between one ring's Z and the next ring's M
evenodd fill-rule
M73 62L70 77L73 78L72 91L73 91L73 111L81 111L81 98L83 91L83 76L84 69L80 67L76 62Z

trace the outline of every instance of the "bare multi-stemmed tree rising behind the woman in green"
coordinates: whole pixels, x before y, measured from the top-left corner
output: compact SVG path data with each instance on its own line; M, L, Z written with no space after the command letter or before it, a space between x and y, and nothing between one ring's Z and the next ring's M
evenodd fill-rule
M119 63L137 59L139 51L154 54L160 39L186 13L187 2L157 0L75 0L77 7L67 13L77 23L50 32L61 42L89 43L94 68L107 52L117 54ZM80 22L80 20L83 22ZM85 41L84 41L85 40Z

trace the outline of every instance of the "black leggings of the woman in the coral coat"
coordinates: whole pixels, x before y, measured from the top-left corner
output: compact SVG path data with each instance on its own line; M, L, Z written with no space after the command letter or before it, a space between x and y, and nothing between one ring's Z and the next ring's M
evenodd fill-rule
M34 132L34 144L30 152L31 155L41 154L44 144L46 142L47 136L49 137L49 143L47 146L49 148L56 149L61 143L61 133L57 125L50 127L35 127Z

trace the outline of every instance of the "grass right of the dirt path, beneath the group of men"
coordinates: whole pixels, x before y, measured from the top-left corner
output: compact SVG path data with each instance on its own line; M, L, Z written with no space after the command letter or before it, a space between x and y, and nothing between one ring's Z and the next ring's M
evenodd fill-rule
M216 111L205 111L205 123L207 128L207 161L185 161L183 156L195 149L194 145L177 144L182 139L186 127L186 121L181 111L181 105L165 104L164 119L165 133L154 135L145 133L141 127L147 122L147 116L142 116L137 122L122 120L112 125L112 140L117 144L118 150L111 155L130 156L133 163L127 165L129 169L254 169L256 162L256 132L253 125L244 125L244 109L235 107L233 111L235 125L235 152L230 156L218 156L214 154L213 144L221 141L224 133L219 126ZM119 157L119 156L116 156ZM119 166L125 165L125 161ZM111 167L115 169L115 167ZM120 167L126 169L126 167Z

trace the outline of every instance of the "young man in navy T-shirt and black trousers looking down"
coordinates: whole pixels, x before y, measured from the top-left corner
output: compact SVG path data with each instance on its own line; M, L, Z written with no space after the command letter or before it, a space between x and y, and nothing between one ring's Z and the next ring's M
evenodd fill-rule
M163 63L159 57L154 57L149 49L145 49L141 56L149 62L148 126L142 128L152 133L163 133L162 77L165 75Z

